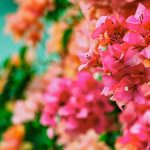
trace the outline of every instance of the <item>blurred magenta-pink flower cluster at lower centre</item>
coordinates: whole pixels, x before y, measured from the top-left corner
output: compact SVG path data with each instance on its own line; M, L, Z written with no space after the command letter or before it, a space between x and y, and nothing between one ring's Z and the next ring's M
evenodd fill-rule
M64 122L65 130L71 134L90 128L97 132L108 129L110 121L106 114L113 107L100 95L101 88L102 84L87 72L79 73L76 80L56 78L44 95L41 123L55 128L59 122Z

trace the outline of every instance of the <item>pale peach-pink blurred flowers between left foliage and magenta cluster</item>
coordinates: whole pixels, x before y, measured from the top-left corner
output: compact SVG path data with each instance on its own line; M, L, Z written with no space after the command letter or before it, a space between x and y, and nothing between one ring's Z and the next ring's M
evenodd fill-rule
M13 107L13 124L33 121L36 114L41 112L44 106L43 94L54 76L60 73L60 70L57 68L58 66L53 64L53 67L50 67L44 74L35 76L25 90L25 99L16 101Z

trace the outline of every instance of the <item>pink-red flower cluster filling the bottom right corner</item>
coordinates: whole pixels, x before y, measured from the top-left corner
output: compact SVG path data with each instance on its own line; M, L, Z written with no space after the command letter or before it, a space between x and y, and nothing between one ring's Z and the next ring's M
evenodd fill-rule
M143 105L129 103L121 114L120 121L123 124L123 136L117 140L118 150L127 146L132 146L136 150L148 150L150 148L149 102Z

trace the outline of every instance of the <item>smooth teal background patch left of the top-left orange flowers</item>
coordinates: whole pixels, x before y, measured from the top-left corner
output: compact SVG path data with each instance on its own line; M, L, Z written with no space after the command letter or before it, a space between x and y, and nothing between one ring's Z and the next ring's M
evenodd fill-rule
M13 0L0 0L0 63L21 47L21 43L16 43L11 35L4 33L6 16L16 8Z

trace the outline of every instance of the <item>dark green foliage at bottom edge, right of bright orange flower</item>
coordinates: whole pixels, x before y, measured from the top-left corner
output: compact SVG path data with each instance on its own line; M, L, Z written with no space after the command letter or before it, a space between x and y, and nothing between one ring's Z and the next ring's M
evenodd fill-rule
M47 128L40 124L39 116L33 122L26 123L25 128L25 141L33 144L33 150L62 150L62 146L56 144L57 137L48 138Z

